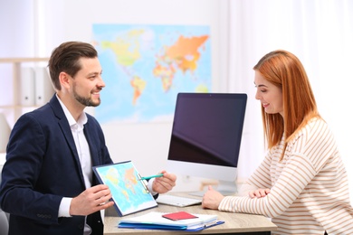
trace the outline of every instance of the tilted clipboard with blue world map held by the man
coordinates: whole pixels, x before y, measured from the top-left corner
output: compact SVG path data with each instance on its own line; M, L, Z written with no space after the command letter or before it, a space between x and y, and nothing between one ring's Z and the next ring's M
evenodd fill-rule
M112 201L119 216L157 207L157 202L148 192L146 182L131 161L93 167L100 183L110 187Z

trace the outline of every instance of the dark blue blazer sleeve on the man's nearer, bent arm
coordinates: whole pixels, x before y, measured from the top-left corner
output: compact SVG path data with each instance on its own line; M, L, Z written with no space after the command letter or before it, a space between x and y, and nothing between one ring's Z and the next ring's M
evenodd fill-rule
M57 223L62 196L34 190L46 152L43 128L30 114L18 119L7 146L0 188L1 208L41 223Z

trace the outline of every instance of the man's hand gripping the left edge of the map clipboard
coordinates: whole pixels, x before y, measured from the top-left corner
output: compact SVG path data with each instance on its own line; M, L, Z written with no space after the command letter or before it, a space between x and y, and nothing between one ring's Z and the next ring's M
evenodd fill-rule
M107 185L93 186L72 198L70 214L89 215L95 211L107 209L114 204L114 202L109 202L110 198L110 189Z

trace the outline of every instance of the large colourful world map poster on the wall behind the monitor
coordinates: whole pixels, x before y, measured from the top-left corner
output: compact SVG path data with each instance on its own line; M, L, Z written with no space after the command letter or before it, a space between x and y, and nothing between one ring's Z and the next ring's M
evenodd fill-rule
M106 87L100 123L171 121L179 92L210 92L210 27L93 24Z

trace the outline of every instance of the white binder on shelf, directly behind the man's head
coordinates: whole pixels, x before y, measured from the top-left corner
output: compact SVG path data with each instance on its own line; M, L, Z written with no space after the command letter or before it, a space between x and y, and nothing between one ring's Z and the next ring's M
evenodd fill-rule
M52 80L46 67L35 67L35 105L42 106L47 103L54 93Z

